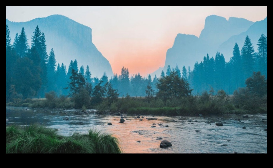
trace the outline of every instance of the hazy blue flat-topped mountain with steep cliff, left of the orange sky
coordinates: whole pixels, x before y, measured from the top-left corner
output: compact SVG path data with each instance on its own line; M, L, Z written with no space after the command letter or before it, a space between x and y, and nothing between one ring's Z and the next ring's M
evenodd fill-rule
M109 61L98 51L92 42L92 29L62 15L37 18L28 22L11 22L6 19L12 40L20 35L22 27L31 45L31 36L38 25L45 34L47 51L54 49L57 63L64 63L68 69L71 60L77 59L78 66L89 65L92 77L113 76Z

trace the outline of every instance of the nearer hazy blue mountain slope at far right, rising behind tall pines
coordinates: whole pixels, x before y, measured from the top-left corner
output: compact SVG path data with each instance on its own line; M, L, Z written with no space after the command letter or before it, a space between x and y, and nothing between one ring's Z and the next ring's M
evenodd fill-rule
M223 53L226 57L226 61L229 61L230 57L232 57L234 44L237 43L240 49L242 49L247 35L251 39L255 51L257 51L258 46L256 44L258 43L261 34L264 34L264 36L267 37L267 17L264 20L255 22L247 31L242 32L239 35L231 36L219 46L218 51Z

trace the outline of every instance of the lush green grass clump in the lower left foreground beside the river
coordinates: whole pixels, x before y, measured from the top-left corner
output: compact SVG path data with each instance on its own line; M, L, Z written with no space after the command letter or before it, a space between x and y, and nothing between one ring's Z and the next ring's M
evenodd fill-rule
M117 138L89 130L64 137L56 130L30 125L6 127L6 153L122 153Z

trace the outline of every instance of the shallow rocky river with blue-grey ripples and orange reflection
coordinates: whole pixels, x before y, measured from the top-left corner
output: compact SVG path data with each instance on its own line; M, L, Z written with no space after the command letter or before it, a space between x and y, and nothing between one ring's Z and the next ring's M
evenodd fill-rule
M125 122L120 124L120 116L6 107L6 126L39 123L58 129L59 135L64 136L96 129L117 137L123 153L267 153L267 132L264 131L267 114L248 116L143 116L143 121L135 119L136 116L125 116ZM65 117L68 120L64 120ZM224 126L216 126L219 121ZM171 142L172 147L159 148L162 140Z

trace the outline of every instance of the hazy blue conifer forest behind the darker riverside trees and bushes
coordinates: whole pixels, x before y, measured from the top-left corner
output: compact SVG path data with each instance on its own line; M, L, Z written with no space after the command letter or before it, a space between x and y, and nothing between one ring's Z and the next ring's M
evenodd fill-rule
M62 44L60 44L62 45ZM161 76L149 75L148 78L133 74L130 76L128 68L122 67L121 75L115 74L108 77L106 73L99 78L92 78L89 67L78 66L77 60L71 60L67 67L57 64L54 50L49 54L46 48L46 38L37 26L31 37L31 44L24 28L20 35L17 33L13 44L9 35L9 27L6 25L6 101L12 96L18 98L44 97L47 92L54 91L56 95L70 95L72 73L84 77L85 86L89 87L89 95L96 87L108 86L117 90L119 97L130 95L132 97L145 97L147 86L151 87L153 95L158 92L159 79L176 73L181 80L188 82L192 93L197 95L204 91L216 94L224 90L228 94L241 87L245 87L245 80L252 76L253 72L260 71L267 79L267 37L261 34L256 44L258 51L253 49L253 43L248 36L241 50L237 43L233 48L233 56L226 62L224 55L217 52L215 57L206 55L201 63L196 62L193 70L190 67L168 66L167 72L161 72ZM75 77L75 74L74 74ZM110 86L110 85L111 86ZM151 93L149 93L151 94Z

